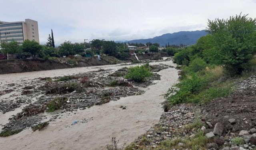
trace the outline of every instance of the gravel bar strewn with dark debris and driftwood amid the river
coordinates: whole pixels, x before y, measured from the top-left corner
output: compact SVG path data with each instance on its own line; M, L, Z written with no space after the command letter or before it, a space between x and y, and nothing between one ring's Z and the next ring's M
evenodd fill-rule
M152 71L165 68L166 65L154 65ZM155 80L160 80L160 75L154 73L154 76L144 83L131 82L124 79L126 72L127 67L116 71L100 68L98 71L72 76L22 80L21 84L12 86L15 93L13 97L10 96L12 100L6 98L0 103L0 111L4 113L26 104L21 112L9 118L9 123L2 128L2 134L16 134L32 126L39 129L43 124L38 122L42 120L56 120L78 109L83 110L111 100L119 100L121 97L143 94L144 90L138 87L147 87L155 84ZM126 106L122 109L126 109ZM54 112L56 115L47 116L46 112Z

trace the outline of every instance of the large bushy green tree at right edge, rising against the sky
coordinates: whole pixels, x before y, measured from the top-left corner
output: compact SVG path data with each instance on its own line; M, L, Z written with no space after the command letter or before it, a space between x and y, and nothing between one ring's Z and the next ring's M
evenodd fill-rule
M240 14L209 20L206 31L210 34L202 46L206 60L223 65L230 73L242 73L256 52L256 19Z

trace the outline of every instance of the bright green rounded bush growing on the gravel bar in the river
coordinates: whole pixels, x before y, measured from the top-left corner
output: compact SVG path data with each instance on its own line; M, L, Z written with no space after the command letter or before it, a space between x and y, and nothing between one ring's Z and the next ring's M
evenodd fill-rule
M134 80L135 82L145 82L146 78L152 75L153 74L150 72L150 68L146 68L144 65L142 65L128 68L125 78Z

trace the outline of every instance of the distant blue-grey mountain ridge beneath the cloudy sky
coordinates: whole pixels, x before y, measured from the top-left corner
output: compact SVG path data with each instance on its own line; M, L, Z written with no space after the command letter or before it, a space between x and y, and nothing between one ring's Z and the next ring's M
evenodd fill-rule
M154 38L148 38L148 39L138 39L138 40L130 40L126 42L130 43L146 43L146 42L151 42L151 43L159 43L160 46L165 46L165 44L172 45L180 45L180 44L185 44L185 45L192 45L196 44L196 41L198 38L205 36L207 33L205 30L201 31L180 31L180 32L175 32L175 33L167 33L163 34L161 36L156 36Z

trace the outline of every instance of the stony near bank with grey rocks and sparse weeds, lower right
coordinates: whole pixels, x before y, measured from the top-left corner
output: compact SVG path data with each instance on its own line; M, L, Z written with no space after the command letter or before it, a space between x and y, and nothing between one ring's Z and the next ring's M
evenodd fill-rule
M200 149L255 150L255 87L256 76L251 76L238 82L230 96L203 105L174 105L128 148L188 150L198 140Z

